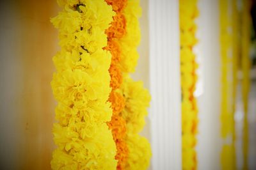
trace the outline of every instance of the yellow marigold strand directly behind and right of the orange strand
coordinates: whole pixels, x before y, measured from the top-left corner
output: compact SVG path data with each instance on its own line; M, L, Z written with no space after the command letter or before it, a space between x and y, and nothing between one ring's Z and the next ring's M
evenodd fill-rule
M145 125L147 107L150 102L150 95L147 89L143 88L143 82L135 82L129 76L134 72L139 58L137 47L140 43L140 25L138 18L141 15L140 1L127 0L123 11L126 20L126 33L120 38L120 68L123 72L123 81L118 92L125 99L125 107L120 112L127 125L125 142L127 143L129 155L125 169L147 169L152 155L150 144L145 137L138 133Z

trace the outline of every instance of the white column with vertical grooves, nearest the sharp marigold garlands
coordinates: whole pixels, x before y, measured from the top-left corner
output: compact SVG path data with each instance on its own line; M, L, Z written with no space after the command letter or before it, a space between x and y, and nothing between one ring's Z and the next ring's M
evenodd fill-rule
M152 168L181 169L179 1L149 0Z

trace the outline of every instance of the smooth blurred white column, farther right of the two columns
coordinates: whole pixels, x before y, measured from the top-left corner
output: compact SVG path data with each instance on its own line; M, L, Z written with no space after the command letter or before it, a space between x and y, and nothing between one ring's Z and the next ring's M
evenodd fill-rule
M218 1L198 1L198 169L220 169L220 21Z

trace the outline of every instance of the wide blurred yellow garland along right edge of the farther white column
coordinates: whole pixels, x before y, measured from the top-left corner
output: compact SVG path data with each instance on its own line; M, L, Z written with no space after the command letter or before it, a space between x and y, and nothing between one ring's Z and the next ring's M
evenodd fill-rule
M234 111L237 84L238 17L236 1L220 1L221 168L236 169Z

